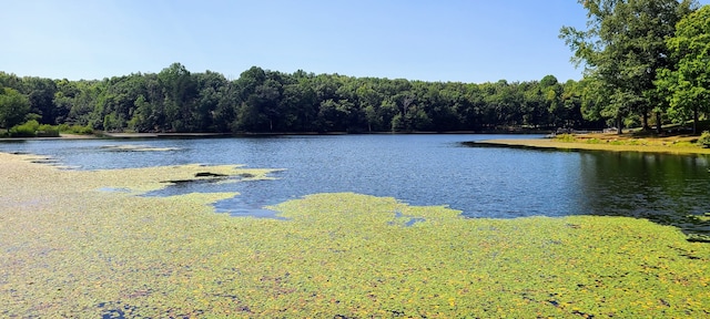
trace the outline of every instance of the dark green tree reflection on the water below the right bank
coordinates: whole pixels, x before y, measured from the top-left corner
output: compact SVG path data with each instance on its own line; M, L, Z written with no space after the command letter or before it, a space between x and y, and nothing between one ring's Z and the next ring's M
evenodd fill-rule
M708 157L584 152L580 161L586 214L641 217L710 233L710 223L688 217L710 212Z

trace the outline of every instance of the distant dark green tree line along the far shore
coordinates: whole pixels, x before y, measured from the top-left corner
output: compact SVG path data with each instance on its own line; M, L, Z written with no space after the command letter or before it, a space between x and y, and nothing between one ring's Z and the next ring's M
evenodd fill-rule
M102 81L18 78L41 123L131 132L447 132L599 126L582 119L579 83L470 84L283 73L253 66L239 79L180 63ZM7 126L7 124L6 124Z

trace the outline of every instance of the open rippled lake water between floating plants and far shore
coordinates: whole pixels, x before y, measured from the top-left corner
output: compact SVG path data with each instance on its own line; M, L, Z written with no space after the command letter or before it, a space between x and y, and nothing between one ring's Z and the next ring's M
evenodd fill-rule
M413 205L448 205L469 217L621 215L710 234L688 215L710 212L707 156L468 147L462 142L530 136L342 135L0 143L0 152L49 155L78 169L175 164L285 168L277 181L172 186L152 196L240 192L215 206L268 216L261 207L307 194L354 192ZM108 145L175 148L115 152Z

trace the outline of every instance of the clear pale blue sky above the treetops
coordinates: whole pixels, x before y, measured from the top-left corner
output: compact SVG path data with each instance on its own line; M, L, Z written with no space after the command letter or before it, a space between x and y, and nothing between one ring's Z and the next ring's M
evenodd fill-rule
M709 0L710 1L710 0ZM468 83L581 79L558 38L575 0L10 0L0 71L103 79L173 62ZM708 2L708 1L701 1Z

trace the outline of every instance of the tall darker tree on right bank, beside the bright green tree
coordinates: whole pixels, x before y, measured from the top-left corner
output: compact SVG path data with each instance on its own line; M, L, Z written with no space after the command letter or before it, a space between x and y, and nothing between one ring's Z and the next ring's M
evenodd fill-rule
M588 73L611 90L605 116L622 120L631 113L643 119L657 104L656 72L669 65L666 39L673 37L676 23L697 7L693 0L578 0L587 9L587 30L564 27L560 38L585 63Z

